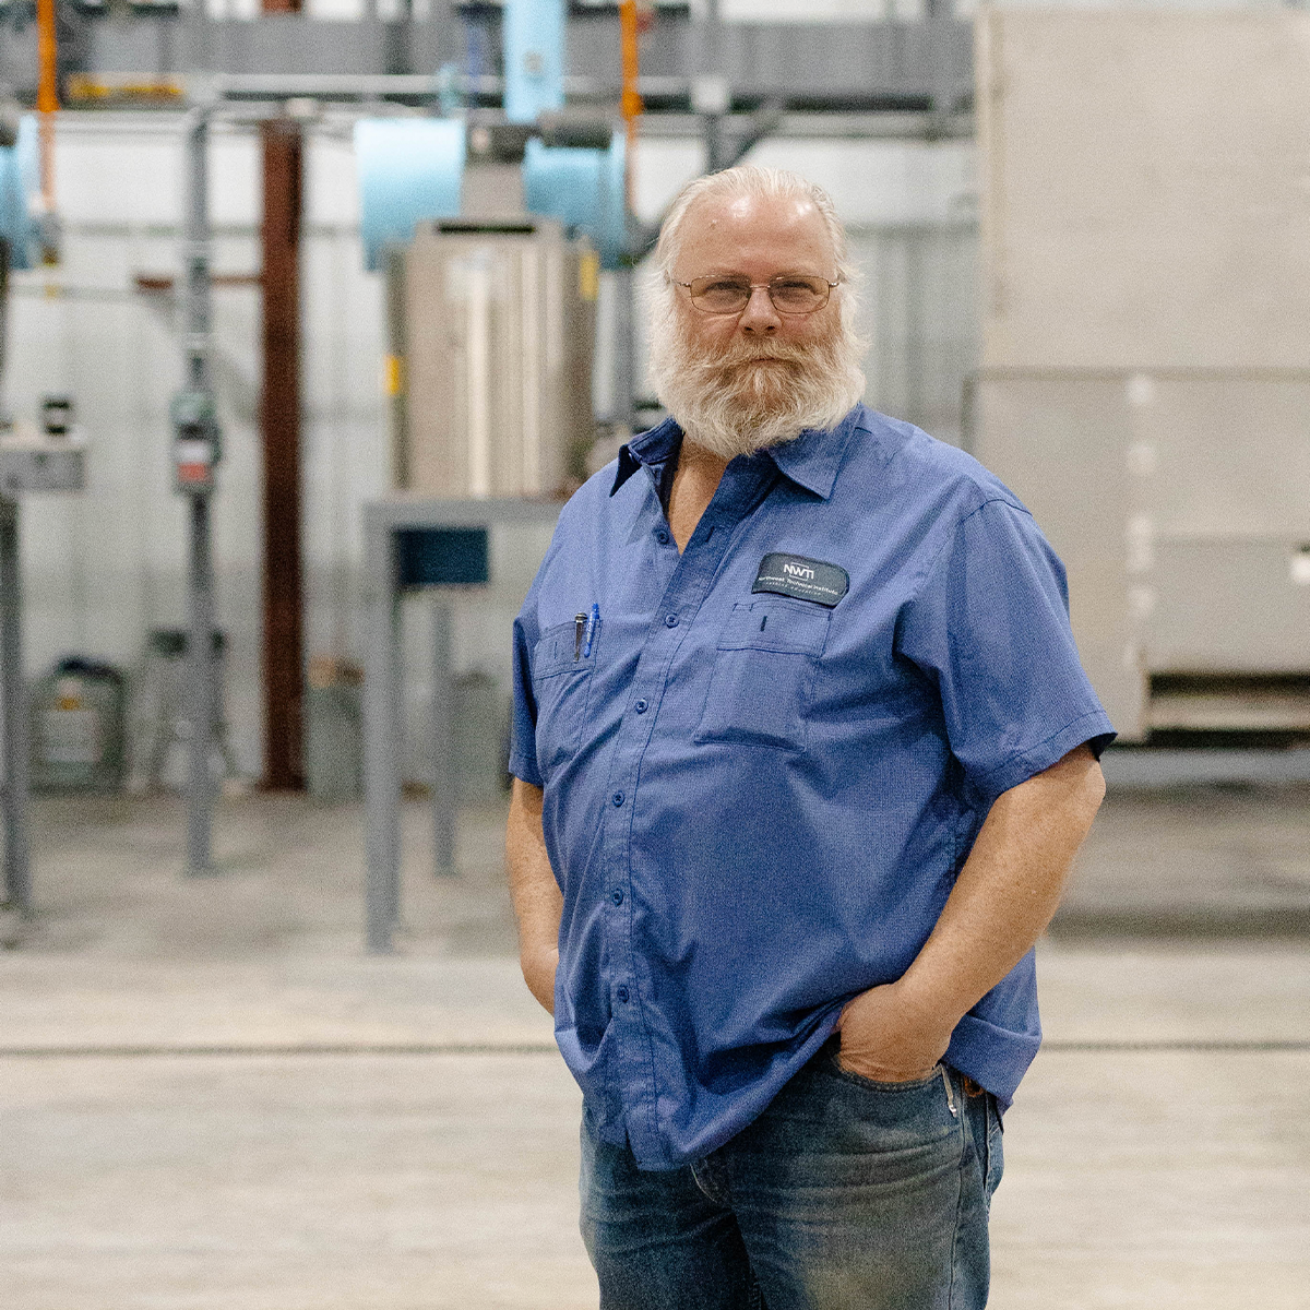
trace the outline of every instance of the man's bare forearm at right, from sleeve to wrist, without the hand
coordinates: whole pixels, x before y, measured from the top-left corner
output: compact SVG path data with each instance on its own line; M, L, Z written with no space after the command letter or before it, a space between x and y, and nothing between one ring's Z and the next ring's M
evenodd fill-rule
M1041 935L1104 790L1099 765L1079 747L996 800L900 980L904 1003L925 1022L954 1028Z

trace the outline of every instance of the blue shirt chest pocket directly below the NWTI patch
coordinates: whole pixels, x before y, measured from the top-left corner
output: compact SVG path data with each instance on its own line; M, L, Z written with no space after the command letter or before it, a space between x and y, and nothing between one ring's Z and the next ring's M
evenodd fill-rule
M732 607L693 740L804 751L806 710L831 610L772 596Z

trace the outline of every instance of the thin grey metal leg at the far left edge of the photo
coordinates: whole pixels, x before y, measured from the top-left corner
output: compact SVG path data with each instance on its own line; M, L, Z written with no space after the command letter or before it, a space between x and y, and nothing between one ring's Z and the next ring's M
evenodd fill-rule
M28 694L22 680L18 502L0 496L0 680L4 694L4 886L20 914L31 913L28 844Z

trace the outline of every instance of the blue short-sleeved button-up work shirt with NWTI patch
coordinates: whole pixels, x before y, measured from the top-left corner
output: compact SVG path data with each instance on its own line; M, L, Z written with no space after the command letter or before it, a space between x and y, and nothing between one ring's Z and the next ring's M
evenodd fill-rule
M679 554L680 443L645 434L565 506L514 634L510 766L545 791L563 892L555 1034L645 1169L758 1115L904 973L992 802L1114 736L1060 561L969 456L857 406L735 458ZM946 1058L1009 1103L1039 1041L1030 952Z

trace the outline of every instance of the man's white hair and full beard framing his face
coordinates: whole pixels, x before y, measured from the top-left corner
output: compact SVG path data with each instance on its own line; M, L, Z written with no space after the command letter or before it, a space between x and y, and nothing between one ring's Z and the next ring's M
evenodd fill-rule
M688 214L702 200L800 199L814 204L832 241L837 279L837 322L832 333L803 348L770 342L749 347L786 360L786 380L748 377L735 364L741 350L730 346L722 359L697 356L679 321L673 267ZM650 304L650 375L655 394L688 438L724 458L791 440L806 428L831 427L859 400L863 342L854 330L858 272L849 261L846 232L832 198L796 173L740 164L697 178L679 194L664 217L647 274Z

